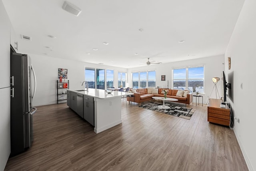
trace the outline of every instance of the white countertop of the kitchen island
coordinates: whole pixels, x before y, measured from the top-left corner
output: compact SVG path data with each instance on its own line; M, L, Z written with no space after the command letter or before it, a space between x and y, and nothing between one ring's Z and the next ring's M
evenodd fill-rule
M106 99L106 98L113 98L113 97L122 97L123 95L132 95L133 93L126 93L126 92L121 92L121 91L113 91L112 93L106 93L104 89L94 89L94 88L89 88L88 91L76 91L76 90L71 90L68 89L67 91L72 91L75 93L83 94L83 95L88 95L91 97L96 97L100 99Z

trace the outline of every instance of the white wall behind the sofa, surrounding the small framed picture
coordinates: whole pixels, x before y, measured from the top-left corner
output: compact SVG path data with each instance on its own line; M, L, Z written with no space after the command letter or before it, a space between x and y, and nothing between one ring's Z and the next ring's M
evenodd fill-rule
M172 68L183 67L183 66L197 66L204 65L204 88L205 94L203 95L204 104L207 102L208 97L211 94L212 88L214 86L212 82L213 77L222 78L222 71L224 71L224 55L212 56L194 60L186 60L180 62L172 62L168 64L155 64L150 66L143 66L139 68L128 69L128 82L130 87L132 87L132 72L145 71L145 70L156 70L156 86L167 87L167 80L169 80L169 88L172 88ZM166 81L161 81L161 75L165 75ZM222 97L222 82L217 84L217 88ZM216 98L215 89L211 94L211 98ZM218 98L218 95L217 95ZM201 103L201 99L200 99Z

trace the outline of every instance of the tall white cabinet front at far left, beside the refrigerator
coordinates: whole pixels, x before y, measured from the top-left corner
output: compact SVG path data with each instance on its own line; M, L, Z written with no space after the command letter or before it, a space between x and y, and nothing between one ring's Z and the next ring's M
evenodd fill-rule
M10 20L0 1L0 171L10 155Z

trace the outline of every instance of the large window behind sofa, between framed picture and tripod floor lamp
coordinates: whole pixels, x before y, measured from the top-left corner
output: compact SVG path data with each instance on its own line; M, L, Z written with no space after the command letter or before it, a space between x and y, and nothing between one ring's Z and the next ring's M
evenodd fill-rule
M204 66L173 69L173 89L204 93Z

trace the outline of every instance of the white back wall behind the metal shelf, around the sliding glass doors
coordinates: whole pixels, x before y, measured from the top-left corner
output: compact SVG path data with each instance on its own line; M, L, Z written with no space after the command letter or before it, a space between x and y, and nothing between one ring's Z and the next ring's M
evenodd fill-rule
M74 60L64 60L49 56L28 54L31 57L32 65L36 73L36 94L33 105L48 105L57 103L56 80L58 80L58 68L68 69L68 80L70 89L82 89L81 83L84 81L84 68L100 68L114 70L114 82L117 87L118 71L127 72L126 69L90 64Z

